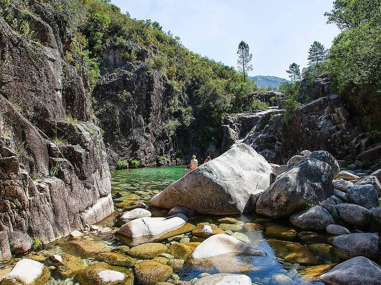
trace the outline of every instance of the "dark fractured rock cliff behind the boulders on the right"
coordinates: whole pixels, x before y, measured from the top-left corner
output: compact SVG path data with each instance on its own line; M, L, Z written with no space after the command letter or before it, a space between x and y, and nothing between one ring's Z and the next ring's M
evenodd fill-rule
M326 150L338 159L358 159L374 168L380 163L379 134L361 132L343 98L335 94L301 105L287 118L285 110L277 108L229 115L221 128L223 151L243 141L272 163L285 164L303 150Z

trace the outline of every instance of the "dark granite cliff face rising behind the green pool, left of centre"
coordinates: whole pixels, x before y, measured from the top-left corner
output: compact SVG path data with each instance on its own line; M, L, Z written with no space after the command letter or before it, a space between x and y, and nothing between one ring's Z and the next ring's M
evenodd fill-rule
M167 164L163 157L174 159L176 142L165 131L174 96L168 80L144 63L124 62L102 76L93 90L94 108L109 154L116 154L110 163L135 159L153 166Z

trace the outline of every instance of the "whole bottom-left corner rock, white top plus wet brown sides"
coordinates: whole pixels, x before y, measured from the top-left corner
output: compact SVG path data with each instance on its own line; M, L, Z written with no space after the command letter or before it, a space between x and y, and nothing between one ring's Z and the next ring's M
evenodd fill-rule
M44 264L24 258L16 263L1 284L45 284L49 278L50 271Z

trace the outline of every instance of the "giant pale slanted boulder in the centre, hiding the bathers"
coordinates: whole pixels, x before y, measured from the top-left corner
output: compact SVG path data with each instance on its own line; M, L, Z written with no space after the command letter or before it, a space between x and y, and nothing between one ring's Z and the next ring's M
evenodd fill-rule
M201 214L224 215L253 209L250 194L270 185L272 167L252 147L240 144L205 163L154 196L150 204L186 206Z

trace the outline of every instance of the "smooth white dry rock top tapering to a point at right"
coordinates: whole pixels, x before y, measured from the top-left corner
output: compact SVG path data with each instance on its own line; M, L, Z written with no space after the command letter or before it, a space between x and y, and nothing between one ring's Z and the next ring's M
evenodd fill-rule
M190 254L190 258L204 259L230 253L266 256L265 252L257 250L235 237L227 234L216 234L201 242Z

